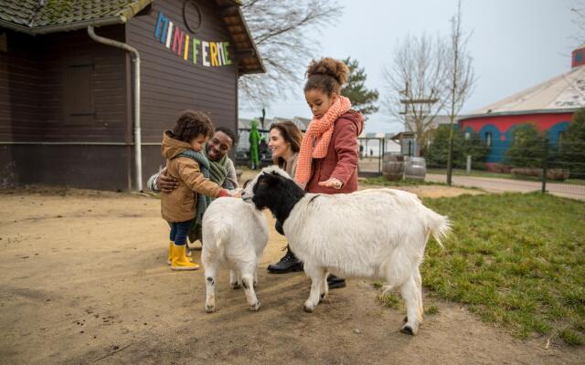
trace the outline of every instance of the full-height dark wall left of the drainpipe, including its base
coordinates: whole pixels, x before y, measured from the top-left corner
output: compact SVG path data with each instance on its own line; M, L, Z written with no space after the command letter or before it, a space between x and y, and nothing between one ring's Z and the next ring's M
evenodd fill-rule
M46 36L4 31L0 187L128 189L132 147L124 144L133 140L125 52L96 43L85 29ZM124 32L124 26L97 30L122 41Z

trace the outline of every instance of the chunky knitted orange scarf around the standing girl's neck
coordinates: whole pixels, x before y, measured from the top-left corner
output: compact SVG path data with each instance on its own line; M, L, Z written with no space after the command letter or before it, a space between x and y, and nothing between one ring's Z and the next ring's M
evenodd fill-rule
M329 142L333 135L335 120L351 109L351 102L346 97L339 96L335 103L325 112L321 119L311 120L309 128L304 133L301 151L297 160L294 180L305 184L311 178L312 159L323 159L327 154Z

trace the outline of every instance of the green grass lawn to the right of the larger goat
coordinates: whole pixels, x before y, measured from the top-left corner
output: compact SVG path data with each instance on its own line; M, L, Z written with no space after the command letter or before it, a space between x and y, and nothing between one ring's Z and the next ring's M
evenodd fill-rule
M541 193L427 199L450 216L445 249L421 268L431 296L468 305L526 338L581 345L585 335L585 204Z

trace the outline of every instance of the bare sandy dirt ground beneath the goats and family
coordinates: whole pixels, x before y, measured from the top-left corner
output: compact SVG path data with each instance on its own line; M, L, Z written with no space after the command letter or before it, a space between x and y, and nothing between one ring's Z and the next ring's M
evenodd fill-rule
M470 193L421 186L428 196ZM471 192L477 193L477 192ZM269 219L270 215L267 214ZM65 189L0 193L0 363L3 364L578 364L585 349L518 340L463 307L426 299L419 335L384 308L371 283L348 280L312 314L303 273L270 275L285 241L271 232L259 268L261 310L218 276L204 310L203 270L165 265L159 201ZM196 252L199 261L199 252ZM422 273L424 276L424 273Z

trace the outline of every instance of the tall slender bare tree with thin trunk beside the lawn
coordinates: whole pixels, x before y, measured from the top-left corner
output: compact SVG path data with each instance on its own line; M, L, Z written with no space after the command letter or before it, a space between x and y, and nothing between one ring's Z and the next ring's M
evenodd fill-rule
M445 65L445 96L449 100L445 110L451 120L449 133L449 154L447 156L447 184L452 183L453 124L463 104L473 91L473 58L467 50L469 36L463 34L461 0L457 2L457 14L451 18L451 42L447 45Z

